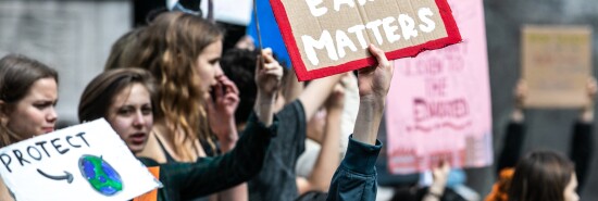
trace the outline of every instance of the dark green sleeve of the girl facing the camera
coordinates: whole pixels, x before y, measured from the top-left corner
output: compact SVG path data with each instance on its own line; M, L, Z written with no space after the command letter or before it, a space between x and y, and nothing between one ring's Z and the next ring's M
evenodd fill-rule
M235 149L224 155L201 158L195 163L160 165L160 180L164 188L159 200L190 200L237 186L256 176L262 168L278 120L265 127L254 114ZM151 164L148 160L144 163Z

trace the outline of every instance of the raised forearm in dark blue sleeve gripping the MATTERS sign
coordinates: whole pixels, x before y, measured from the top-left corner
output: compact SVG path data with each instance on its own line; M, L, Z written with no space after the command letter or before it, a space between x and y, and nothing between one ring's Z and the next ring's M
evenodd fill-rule
M359 71L360 108L347 154L337 168L327 200L375 200L375 162L382 143L376 140L386 95L393 78L393 66L384 51L370 46L377 66Z

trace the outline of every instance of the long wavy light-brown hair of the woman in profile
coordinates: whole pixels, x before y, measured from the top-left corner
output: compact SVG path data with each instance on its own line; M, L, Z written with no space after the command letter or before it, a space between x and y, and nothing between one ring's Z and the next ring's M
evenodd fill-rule
M196 61L205 47L222 41L223 33L216 25L191 14L167 12L159 15L141 33L139 52L132 66L148 70L159 85L159 110L155 120L164 120L170 134L183 131L183 141L174 141L175 152L191 159L185 142L205 140L214 149L213 134L208 124L201 81ZM197 150L196 150L197 151Z

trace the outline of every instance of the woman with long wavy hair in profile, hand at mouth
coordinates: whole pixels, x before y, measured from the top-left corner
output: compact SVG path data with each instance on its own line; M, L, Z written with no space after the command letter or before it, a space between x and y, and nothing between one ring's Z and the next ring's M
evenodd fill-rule
M148 70L158 83L154 126L138 156L158 163L195 162L231 151L237 140L234 118L239 91L220 67L223 32L191 14L167 12L140 34L137 51L127 66ZM279 64L272 53L265 68ZM124 66L121 66L124 67ZM271 104L261 95L259 104ZM247 200L247 187L219 194L224 200Z

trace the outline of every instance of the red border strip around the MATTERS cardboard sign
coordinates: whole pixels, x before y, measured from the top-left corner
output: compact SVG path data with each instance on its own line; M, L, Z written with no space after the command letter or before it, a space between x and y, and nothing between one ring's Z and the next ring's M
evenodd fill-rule
M440 17L445 23L447 37L439 38L436 40L431 40L418 46L412 46L409 48L386 52L386 56L388 58L388 60L396 60L400 58L412 58L420 54L420 52L423 52L426 50L440 49L440 48L445 48L447 46L454 45L462 41L459 27L457 26L457 22L454 21L454 17L451 14L452 11L447 0L435 0L435 2L436 2L436 5L438 7ZM290 26L290 22L288 20L288 15L282 0L270 0L270 4L272 5L274 17L278 23L278 27L281 29L281 35L283 36L285 46L287 47L287 50L291 50L288 52L288 54L289 54L292 67L295 68L295 73L297 74L297 79L299 81L316 79L316 78L322 78L332 74L339 74L339 73L345 73L353 70L359 70L362 67L375 65L377 63L374 56L369 56L362 60L356 60L356 61L347 62L340 65L326 66L319 70L308 71L306 67L306 64L301 59L301 53L299 51L299 47L297 46L297 41L292 36L292 28ZM282 32L282 30L288 30L288 32Z

